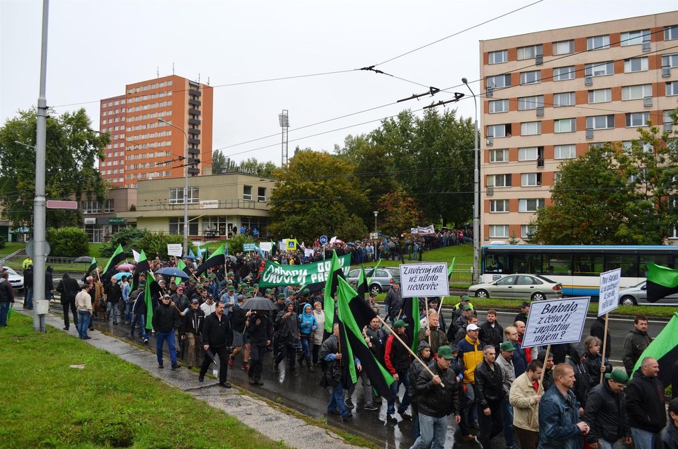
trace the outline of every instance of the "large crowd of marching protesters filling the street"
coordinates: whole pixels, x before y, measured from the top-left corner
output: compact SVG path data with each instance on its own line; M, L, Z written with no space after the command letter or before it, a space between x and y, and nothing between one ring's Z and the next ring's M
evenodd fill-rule
M370 245L360 246L366 255ZM352 248L338 247L356 253ZM292 264L309 257L277 255L279 263ZM186 260L189 271L199 262ZM151 298L152 321L146 319L143 274L132 286L131 277L106 282L94 271L82 287L64 274L57 287L64 303L64 328L69 328L70 312L82 339L89 338L87 330L92 330L94 320L124 323L132 338L138 329L145 344L149 334L155 334L158 368L164 368L166 344L171 368L180 368L180 358L189 367L199 366L200 382L218 360L218 382L226 388L227 370L238 359L253 386L263 385L261 373L267 366L277 372L285 363L289 375L308 371L306 375L322 382L330 392L328 414L349 421L358 403L354 403L356 384L346 384L338 370L342 359L338 328L332 334L324 332L324 290L311 292L295 285L260 289L265 262L259 255L226 257L225 266L179 282L157 275L160 288ZM151 272L163 265L159 259L153 261ZM667 420L657 360L641 359L629 378L629 366L642 353L635 350L638 341L650 340L643 316L636 316L625 345L630 348L625 348L626 368L615 368L606 355L609 348L601 348L598 323L583 344L555 345L548 355L546 350L523 348L529 303L523 303L514 321L503 326L496 310L488 310L487 320L479 323L467 296L447 317L439 313L439 298L421 298L419 316L409 317L420 323L419 333L413 335L407 332L408 312L397 283L386 297L384 314L374 299L371 295L367 304L390 319L390 326L373 319L363 336L395 381L392 395L384 400L385 423L412 421L412 448L444 447L450 422L458 425L458 440L483 449L490 449L498 435L507 449L579 449L585 443L590 449L611 449L620 441L633 441L638 449L678 448L678 398L668 404ZM266 310L248 307L254 300L266 301ZM405 347L413 341L419 359ZM379 410L382 398L363 375L360 360L346 363L356 365L362 384L357 397L362 394L364 409Z

